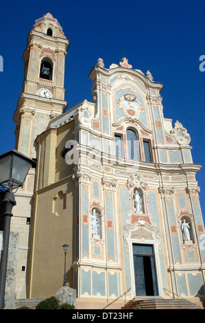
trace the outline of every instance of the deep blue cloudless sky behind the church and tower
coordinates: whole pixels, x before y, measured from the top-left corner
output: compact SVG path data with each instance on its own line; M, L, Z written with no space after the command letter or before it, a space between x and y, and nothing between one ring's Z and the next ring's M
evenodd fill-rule
M123 57L134 69L151 71L164 87L165 118L182 122L191 135L195 164L205 165L204 85L199 69L205 55L204 1L3 1L1 3L0 154L14 148L12 122L23 84L23 51L36 19L47 12L62 25L71 41L66 58L65 88L69 108L90 100L88 78L99 57L105 67ZM205 65L204 65L205 66ZM205 172L197 175L205 214Z

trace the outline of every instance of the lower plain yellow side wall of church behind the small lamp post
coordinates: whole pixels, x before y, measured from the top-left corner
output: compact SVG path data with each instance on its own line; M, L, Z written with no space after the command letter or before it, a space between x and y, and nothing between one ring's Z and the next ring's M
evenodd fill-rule
M65 197L64 209L53 213L53 201ZM34 197L34 231L32 264L29 278L29 297L51 296L62 287L64 252L67 243L67 286L73 287L73 216L75 186L72 177L36 192Z

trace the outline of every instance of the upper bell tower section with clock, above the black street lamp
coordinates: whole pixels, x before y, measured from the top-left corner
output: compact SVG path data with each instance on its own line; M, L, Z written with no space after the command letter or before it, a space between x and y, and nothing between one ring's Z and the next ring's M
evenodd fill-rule
M36 136L67 108L64 60L69 43L60 23L49 13L35 21L27 38L23 89L14 122L15 148L31 158L36 158Z

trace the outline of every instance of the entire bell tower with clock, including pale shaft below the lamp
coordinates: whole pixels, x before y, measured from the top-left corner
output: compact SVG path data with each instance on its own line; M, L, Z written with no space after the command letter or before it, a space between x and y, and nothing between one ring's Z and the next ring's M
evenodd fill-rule
M15 148L30 158L36 158L37 135L47 129L52 118L67 108L68 102L64 100L64 62L69 43L60 23L49 13L35 21L27 37L23 53L23 87L13 120L16 122ZM15 193L11 230L19 234L17 298L27 298L35 176L36 170L31 168L23 188Z

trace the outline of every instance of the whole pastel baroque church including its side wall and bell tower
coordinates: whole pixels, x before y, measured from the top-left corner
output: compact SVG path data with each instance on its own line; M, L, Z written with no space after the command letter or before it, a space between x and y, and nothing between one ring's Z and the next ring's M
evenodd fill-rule
M127 299L175 293L202 301L201 166L189 133L164 118L162 83L125 57L109 68L99 58L89 74L93 102L67 109L68 47L45 14L23 54L15 148L37 166L15 194L16 298L60 289L67 243L67 286L78 308L103 308L125 291Z

